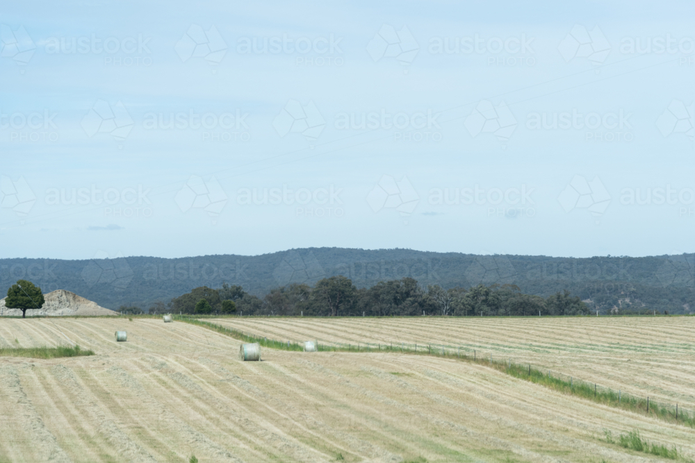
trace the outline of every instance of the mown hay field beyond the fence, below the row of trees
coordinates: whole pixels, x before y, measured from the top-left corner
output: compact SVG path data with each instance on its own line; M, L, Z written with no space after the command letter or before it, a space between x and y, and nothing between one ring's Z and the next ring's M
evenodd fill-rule
M531 363L695 411L695 317L225 318L256 335L325 344L358 342L452 351Z

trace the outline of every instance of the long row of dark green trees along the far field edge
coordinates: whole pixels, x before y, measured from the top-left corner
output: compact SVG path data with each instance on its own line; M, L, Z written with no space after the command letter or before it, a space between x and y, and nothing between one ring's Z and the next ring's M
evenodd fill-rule
M139 313L137 307L122 306L121 312ZM591 311L579 297L562 291L543 298L523 294L516 285L477 285L471 288L423 287L414 278L381 281L357 288L350 278L332 276L313 287L292 284L272 289L263 298L243 287L222 285L197 287L166 305L154 303L150 313L300 315L345 317L351 315L584 315Z

